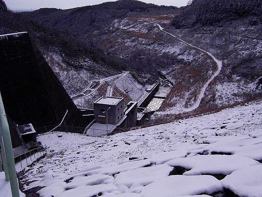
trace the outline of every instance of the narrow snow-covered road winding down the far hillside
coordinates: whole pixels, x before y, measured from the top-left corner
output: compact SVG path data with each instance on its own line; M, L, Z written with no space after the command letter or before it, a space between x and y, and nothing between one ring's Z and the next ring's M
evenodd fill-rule
M177 37L176 35L173 35L173 34L167 32L167 31L165 31L164 28L161 27L161 25L159 25L159 24L157 24L157 25L158 25L159 29L160 29L162 32L164 32L164 33L166 33L166 34L168 34L168 35L171 35L172 37L177 38L177 39L178 39L179 41L181 41L182 43L184 43L184 44L186 44L186 45L188 45L188 46L190 46L190 47L192 47L192 48L194 48L194 49L198 49L198 50L202 51L203 53L207 54L208 56L210 56L210 57L213 59L213 61L214 61L214 62L216 63L216 65L217 65L217 70L216 70L216 72L212 75L212 77L206 82L206 84L205 84L204 87L202 88L202 90L201 90L201 92L200 92L200 94L199 94L199 96L198 96L197 102L195 102L195 104L194 104L192 107L184 108L184 109L183 109L185 112L193 111L193 110L195 110L195 109L197 109L197 108L199 107L199 105L200 105L200 103L201 103L201 100L203 99L203 97L204 97L204 95L205 95L205 91L206 91L208 85L214 80L214 78L215 78L217 75L219 75L219 73L220 73L220 71L221 71L221 69L222 69L223 63L222 63L221 60L218 60L216 57L214 57L211 53L209 53L209 52L207 52L207 51L205 51L205 50L203 50L203 49L201 49L201 48L199 48L199 47L193 46L193 45L191 45L190 43L185 42L184 40L182 40L181 38Z

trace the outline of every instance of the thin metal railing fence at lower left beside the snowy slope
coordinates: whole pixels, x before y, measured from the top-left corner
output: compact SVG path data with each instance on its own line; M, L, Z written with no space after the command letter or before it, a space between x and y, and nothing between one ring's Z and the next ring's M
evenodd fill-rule
M21 172L26 167L31 166L34 162L45 157L47 154L47 149L43 147L32 149L28 152L20 154L14 157L15 169L17 172Z

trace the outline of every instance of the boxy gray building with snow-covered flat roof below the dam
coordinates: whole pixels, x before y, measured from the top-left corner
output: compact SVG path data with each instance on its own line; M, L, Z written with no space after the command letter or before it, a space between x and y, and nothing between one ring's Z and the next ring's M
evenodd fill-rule
M94 102L95 120L100 124L117 124L124 116L124 99L102 96ZM107 117L106 117L107 115Z

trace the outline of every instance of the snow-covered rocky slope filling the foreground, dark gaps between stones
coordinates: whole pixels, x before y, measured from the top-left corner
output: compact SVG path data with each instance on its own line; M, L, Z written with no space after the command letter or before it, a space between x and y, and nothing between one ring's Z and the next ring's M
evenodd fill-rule
M110 137L38 136L25 188L50 196L262 196L262 101Z

